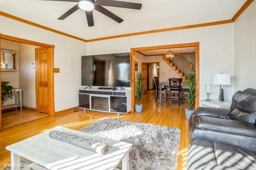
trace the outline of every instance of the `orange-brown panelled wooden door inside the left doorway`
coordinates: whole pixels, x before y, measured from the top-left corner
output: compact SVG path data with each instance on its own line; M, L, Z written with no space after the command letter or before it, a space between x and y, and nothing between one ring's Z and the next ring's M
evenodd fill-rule
M48 48L36 48L36 106L43 113L49 113L48 57Z

